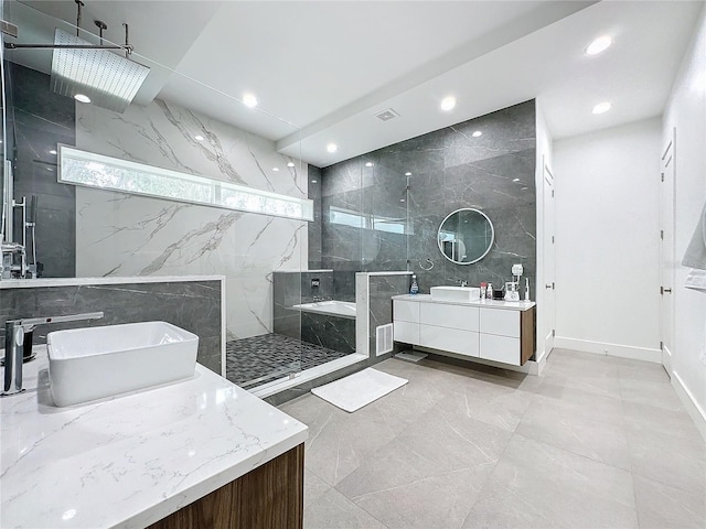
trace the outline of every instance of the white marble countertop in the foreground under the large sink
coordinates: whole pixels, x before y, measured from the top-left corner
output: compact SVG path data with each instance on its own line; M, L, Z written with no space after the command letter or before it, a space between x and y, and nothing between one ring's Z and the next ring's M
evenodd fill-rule
M308 429L196 365L193 378L55 408L46 348L0 399L0 527L138 528L301 444Z

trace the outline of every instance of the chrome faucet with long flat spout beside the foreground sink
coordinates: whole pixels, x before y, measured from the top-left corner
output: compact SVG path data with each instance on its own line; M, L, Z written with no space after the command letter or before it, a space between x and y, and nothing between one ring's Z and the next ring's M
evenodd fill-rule
M88 312L85 314L71 314L68 316L8 320L4 324L4 382L0 397L24 391L24 389L22 389L22 363L24 361L25 333L31 333L38 325L98 320L103 316L103 312Z

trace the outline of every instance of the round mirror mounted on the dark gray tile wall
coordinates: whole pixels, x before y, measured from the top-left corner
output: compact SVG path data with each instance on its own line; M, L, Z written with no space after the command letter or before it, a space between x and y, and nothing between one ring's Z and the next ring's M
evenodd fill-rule
M480 261L490 251L494 238L495 230L488 215L471 207L457 209L439 226L439 250L457 264Z

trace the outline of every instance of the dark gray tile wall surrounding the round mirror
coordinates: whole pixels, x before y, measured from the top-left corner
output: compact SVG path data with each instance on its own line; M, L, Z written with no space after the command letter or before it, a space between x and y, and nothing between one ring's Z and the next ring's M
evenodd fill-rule
M477 130L482 136L473 138ZM531 100L323 169L322 266L334 273L414 270L429 292L459 280L499 287L521 262L534 291L535 144ZM481 209L495 228L492 250L473 264L448 261L437 244L441 220L461 207ZM333 223L336 209L363 224Z

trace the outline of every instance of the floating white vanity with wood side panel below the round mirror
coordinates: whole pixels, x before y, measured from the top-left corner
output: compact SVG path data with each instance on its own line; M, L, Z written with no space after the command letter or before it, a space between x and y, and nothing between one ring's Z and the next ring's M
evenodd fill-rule
M535 304L393 298L396 342L521 366L534 354Z

